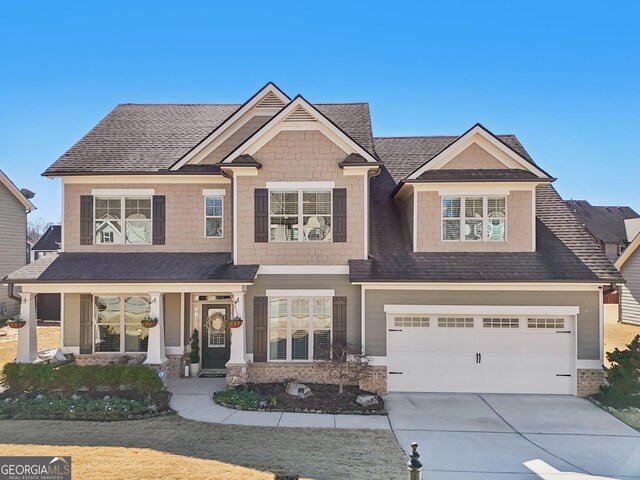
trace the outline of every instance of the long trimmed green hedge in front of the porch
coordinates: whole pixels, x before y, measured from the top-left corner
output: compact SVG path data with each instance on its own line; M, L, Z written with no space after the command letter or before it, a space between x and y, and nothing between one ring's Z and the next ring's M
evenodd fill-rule
M1 383L11 392L64 392L72 394L81 389L119 390L124 387L155 395L164 385L158 372L146 365L51 365L7 363Z

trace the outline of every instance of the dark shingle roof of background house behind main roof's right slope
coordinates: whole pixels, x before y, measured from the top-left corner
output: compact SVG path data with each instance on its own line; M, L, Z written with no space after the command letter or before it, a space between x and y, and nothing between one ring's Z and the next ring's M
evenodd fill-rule
M627 238L625 219L640 215L631 207L606 207L591 205L586 200L568 200L570 210L596 239L604 243L623 244Z

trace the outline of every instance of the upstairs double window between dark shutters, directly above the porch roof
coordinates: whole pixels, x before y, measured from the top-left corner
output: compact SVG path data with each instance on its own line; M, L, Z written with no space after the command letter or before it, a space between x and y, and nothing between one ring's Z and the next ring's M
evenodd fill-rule
M95 243L151 244L150 197L96 197Z

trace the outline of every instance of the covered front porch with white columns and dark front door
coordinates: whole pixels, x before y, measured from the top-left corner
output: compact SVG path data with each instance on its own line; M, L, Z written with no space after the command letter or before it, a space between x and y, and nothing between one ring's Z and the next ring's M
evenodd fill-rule
M16 361L37 359L35 296L60 293L60 349L79 364L143 361L170 376L180 372L181 357L199 332L200 363L205 369L246 372L246 323L243 284L23 284ZM212 314L218 322L211 322ZM240 373L238 373L240 372Z

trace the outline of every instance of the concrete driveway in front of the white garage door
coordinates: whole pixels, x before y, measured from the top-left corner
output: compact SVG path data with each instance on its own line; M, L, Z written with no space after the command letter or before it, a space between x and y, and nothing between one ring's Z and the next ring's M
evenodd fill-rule
M537 475L524 465L531 460L583 474L568 476L576 480L640 479L640 433L581 398L392 393L385 401L400 446L419 443L425 480L567 477Z

